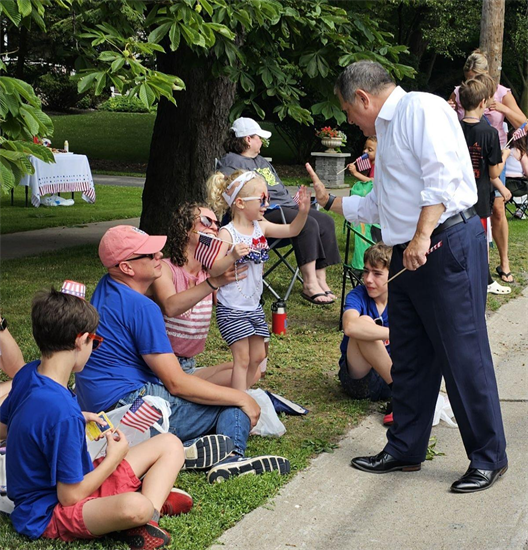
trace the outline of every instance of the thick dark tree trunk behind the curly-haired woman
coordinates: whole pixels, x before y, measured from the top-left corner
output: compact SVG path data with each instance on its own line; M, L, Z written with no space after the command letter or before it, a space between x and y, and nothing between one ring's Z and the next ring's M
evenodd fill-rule
M175 92L177 107L164 98L158 105L143 190L141 228L147 233L166 234L176 205L205 199L236 91L229 79L213 76L213 63L186 46L158 58L159 69L181 77L186 89Z

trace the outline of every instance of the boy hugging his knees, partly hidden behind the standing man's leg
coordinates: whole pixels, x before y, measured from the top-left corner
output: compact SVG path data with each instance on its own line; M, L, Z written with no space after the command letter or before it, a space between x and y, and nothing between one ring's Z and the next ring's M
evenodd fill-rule
M390 399L389 318L387 302L392 248L377 243L365 251L363 285L351 290L345 300L339 380L352 399ZM384 424L392 424L392 410Z

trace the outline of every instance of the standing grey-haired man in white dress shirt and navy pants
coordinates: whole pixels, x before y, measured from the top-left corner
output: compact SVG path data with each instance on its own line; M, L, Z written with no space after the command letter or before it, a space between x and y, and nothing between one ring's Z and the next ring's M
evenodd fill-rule
M317 200L349 221L380 223L394 247L391 275L407 269L389 284L394 425L381 453L352 466L419 470L443 376L470 460L451 490L482 491L508 461L485 320L486 235L460 124L443 99L406 93L378 63L350 65L335 91L348 122L378 138L374 187L334 197L307 165Z

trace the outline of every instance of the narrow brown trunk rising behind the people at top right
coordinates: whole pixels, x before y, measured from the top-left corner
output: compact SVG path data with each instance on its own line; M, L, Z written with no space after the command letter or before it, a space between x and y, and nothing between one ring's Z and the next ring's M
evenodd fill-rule
M504 4L505 0L483 0L480 23L480 49L487 54L489 74L497 84L502 69Z

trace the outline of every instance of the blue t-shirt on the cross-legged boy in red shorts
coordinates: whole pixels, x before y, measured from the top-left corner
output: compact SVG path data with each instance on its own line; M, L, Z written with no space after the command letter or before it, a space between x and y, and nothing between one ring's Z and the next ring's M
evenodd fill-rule
M80 483L93 470L86 423L75 395L28 363L0 407L7 425L7 494L14 528L36 539L59 503L57 482Z

